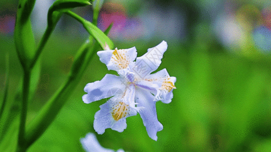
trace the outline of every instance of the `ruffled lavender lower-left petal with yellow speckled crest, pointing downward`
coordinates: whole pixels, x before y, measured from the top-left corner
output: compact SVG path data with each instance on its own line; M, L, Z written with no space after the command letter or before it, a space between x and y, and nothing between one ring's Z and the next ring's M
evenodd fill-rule
M100 106L95 113L94 129L98 134L103 134L105 129L123 132L126 129L126 118L136 115L136 110L123 102L122 96L114 96Z

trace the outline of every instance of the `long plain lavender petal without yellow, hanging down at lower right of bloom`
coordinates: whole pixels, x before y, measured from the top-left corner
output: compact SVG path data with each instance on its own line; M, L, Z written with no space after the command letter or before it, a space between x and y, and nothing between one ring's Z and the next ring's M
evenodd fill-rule
M139 111L143 124L146 127L148 136L157 141L157 132L163 129L163 125L158 121L156 114L156 101L154 95L143 89L138 89L136 93L137 106L145 107Z

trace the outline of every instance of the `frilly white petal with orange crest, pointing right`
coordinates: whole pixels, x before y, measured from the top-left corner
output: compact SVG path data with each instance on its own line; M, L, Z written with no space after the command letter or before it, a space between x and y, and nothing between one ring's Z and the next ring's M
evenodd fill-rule
M174 86L176 78L170 77L165 68L156 73L147 75L143 82L144 81L159 86L160 91L158 91L156 94L156 100L161 100L163 103L171 102L171 99L173 97L172 90L176 89L176 87Z

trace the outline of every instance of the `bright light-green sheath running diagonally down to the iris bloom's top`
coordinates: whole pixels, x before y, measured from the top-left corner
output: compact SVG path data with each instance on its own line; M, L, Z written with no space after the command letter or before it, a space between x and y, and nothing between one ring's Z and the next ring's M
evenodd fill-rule
M91 34L94 37L94 39L100 44L100 46L103 48L103 50L106 49L106 45L108 45L110 49L113 49L113 47L114 47L113 42L97 26L95 26L91 22L85 20L84 18L78 16L77 14L73 13L72 11L68 11L68 12L66 12L66 14L70 15L71 17L73 17L77 21L79 21L84 26L86 31L89 34Z

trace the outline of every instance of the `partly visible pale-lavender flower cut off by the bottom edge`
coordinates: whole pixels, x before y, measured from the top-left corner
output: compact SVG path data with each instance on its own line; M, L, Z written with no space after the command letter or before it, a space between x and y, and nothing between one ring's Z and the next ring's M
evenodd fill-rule
M85 138L81 138L80 142L87 152L114 152L112 149L104 148L100 145L94 133L88 133ZM118 149L117 152L124 152L123 149Z

